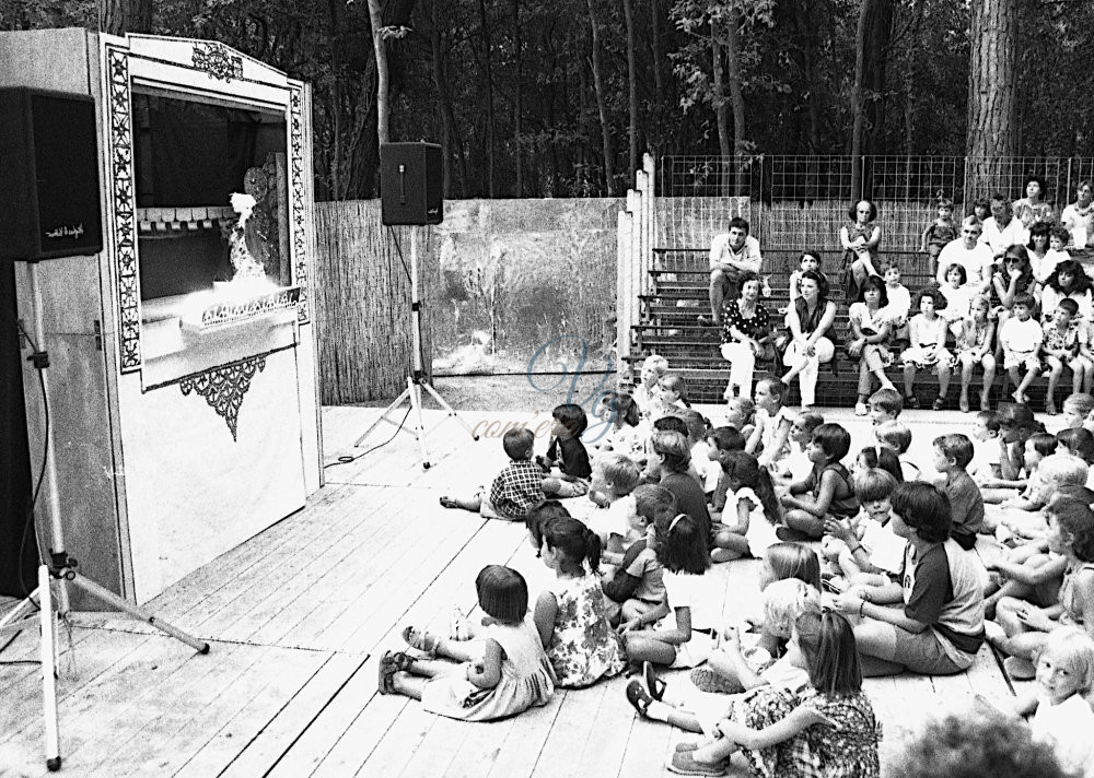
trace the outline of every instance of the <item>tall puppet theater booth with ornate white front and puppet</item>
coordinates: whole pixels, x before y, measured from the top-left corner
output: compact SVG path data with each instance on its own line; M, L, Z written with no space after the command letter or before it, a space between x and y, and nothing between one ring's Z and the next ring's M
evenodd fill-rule
M218 43L83 30L0 34L0 87L94 101L102 250L14 262L15 303L42 305L66 550L143 603L322 485L310 89Z

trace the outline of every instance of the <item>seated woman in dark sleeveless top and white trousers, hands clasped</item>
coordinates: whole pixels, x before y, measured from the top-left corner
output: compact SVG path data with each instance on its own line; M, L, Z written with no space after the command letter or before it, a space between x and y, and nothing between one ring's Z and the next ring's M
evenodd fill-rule
M800 290L802 296L787 313L791 340L782 364L790 372L781 380L790 386L794 378L799 378L802 408L810 408L816 402L821 363L831 362L836 354L836 347L827 338L836 321L836 304L828 299L828 280L821 273L802 273Z

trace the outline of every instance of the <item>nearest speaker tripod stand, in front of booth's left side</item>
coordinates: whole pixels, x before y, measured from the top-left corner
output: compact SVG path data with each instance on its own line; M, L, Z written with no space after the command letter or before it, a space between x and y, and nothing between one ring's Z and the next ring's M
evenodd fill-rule
M27 280L30 282L30 294L34 309L34 337L31 346L34 353L30 361L34 364L42 381L42 394L49 402L49 378L46 368L49 366L49 357L45 350L45 328L43 326L42 296L38 292L37 264L27 264ZM61 524L60 496L57 492L57 462L54 458L54 433L49 424L48 408L46 409L45 424L45 465L43 478L45 479L46 499L49 506L49 523L51 543L49 550L49 561L38 567L38 587L19 604L16 604L2 620L0 620L0 633L20 626L28 626L35 620L34 609L38 609L38 626L42 634L40 656L42 656L42 698L43 715L45 718L45 746L46 767L50 771L61 768L60 738L57 719L57 621L68 621L71 612L69 603L68 587L74 586L86 592L100 602L106 603L117 610L129 614L133 618L146 622L165 635L179 640L198 653L209 653L209 644L199 640L191 635L184 633L167 622L160 621L151 612L138 608L127 600L118 597L109 589L100 586L86 576L77 571L77 561L68 555L65 550L65 533ZM56 606L54 603L54 587L56 586ZM35 602L37 597L37 602ZM56 611L56 613L55 613Z

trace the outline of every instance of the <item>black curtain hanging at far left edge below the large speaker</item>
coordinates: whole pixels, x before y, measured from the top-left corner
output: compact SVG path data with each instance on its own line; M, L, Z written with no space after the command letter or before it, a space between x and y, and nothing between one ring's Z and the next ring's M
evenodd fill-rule
M0 594L21 598L37 586L37 545L25 528L31 453L15 311L14 266L0 263Z

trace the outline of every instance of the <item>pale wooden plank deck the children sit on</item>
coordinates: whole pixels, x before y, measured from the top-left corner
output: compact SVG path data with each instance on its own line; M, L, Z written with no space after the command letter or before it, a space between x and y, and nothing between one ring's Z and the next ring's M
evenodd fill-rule
M325 409L326 461L363 451L352 441L377 413ZM462 415L472 424L529 417ZM907 416L924 451L944 428L971 423L957 413ZM475 444L451 420L441 423L441 413L427 417L435 467L423 471L415 440L403 434L330 467L306 508L149 603L210 640L209 656L117 614L78 614L58 683L61 775L670 775L666 757L687 735L636 718L622 679L560 691L544 708L489 724L439 718L414 700L376 694L381 652L401 646L405 624L446 626L453 604L469 611L482 565L512 565L533 592L548 573L523 527L438 505L441 494L488 483L504 455L498 439ZM857 443L866 441L866 423L848 411L836 417ZM366 445L393 431L383 425ZM726 618L754 606L754 564L711 574L724 581ZM0 777L47 775L36 651L36 636L24 633L0 653ZM1011 694L987 648L967 674L874 680L868 692L885 727L884 759L929 714L968 706L977 692Z

